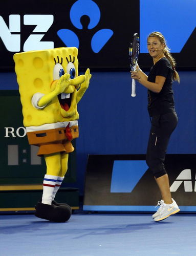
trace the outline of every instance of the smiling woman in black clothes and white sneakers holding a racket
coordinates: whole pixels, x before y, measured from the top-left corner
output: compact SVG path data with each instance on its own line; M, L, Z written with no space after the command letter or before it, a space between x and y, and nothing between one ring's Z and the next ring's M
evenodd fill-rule
M158 202L160 207L153 215L155 221L161 221L180 211L176 201L171 198L169 178L164 166L169 138L178 123L172 81L180 82L180 77L175 70L176 61L169 53L165 38L160 32L153 32L148 36L147 48L153 57L154 66L148 76L137 66L136 71L131 71L131 77L148 89L151 129L146 163L161 191L162 200Z

